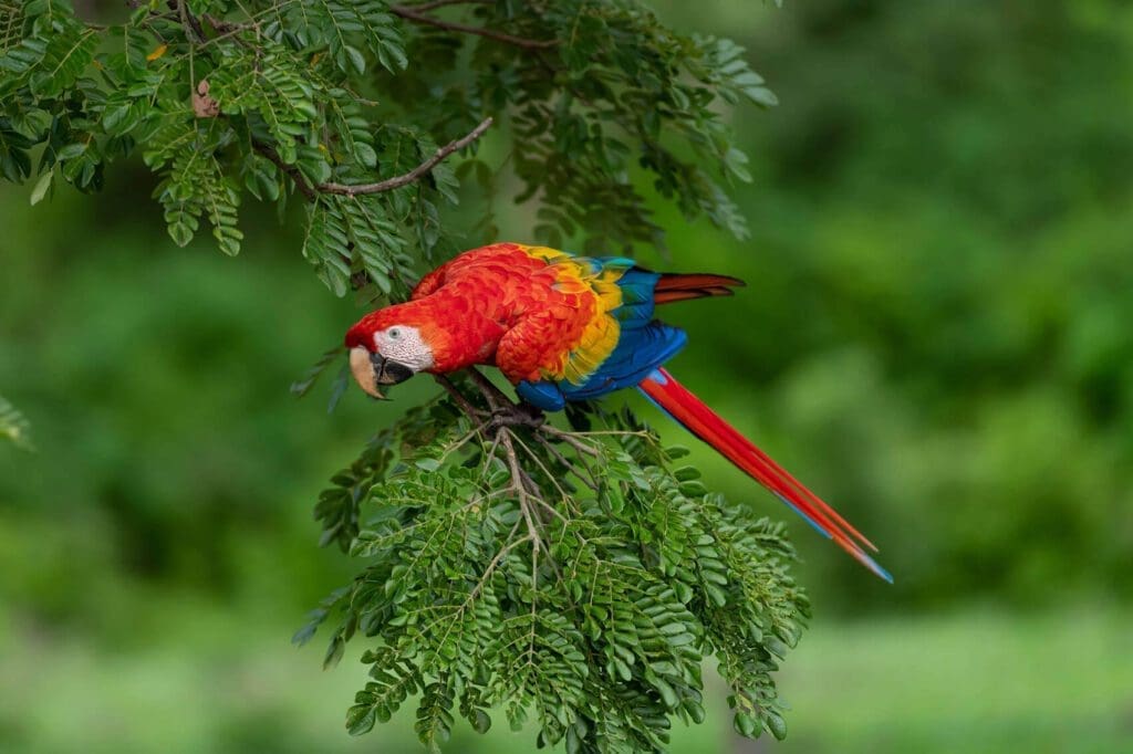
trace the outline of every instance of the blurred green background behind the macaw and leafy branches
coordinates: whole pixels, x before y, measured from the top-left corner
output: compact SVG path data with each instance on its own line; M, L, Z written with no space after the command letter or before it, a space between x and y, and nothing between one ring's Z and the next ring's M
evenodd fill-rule
M792 522L816 616L787 740L735 738L714 687L673 751L1133 751L1133 7L657 6L782 100L734 115L751 240L661 214L645 263L749 282L666 311L673 371L896 576ZM350 575L315 548L322 482L432 386L292 400L356 302L293 219L249 205L236 259L177 249L151 189L136 165L34 208L0 188L0 392L40 448L0 446L0 751L417 751L411 714L350 739L364 668L289 636ZM450 748L530 748L505 728Z

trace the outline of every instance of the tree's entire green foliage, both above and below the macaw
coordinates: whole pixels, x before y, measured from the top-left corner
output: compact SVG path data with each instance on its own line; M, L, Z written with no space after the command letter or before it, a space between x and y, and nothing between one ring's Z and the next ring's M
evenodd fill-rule
M469 246L442 214L467 187L486 199L484 239L501 185L537 203L533 235L554 246L663 245L650 185L747 232L726 194L750 180L747 156L722 112L774 95L741 48L636 0L126 5L104 24L63 0L0 0L0 174L35 175L33 204L60 183L97 190L139 155L173 241L205 228L235 255L248 196L281 214L298 202L304 257L370 303ZM470 156L486 132L502 161ZM782 736L770 674L807 601L781 528L709 494L629 412L586 405L556 427L477 372L442 382L316 508L323 543L360 571L297 637L335 616L327 662L366 637L350 732L416 694L434 748L455 714L484 730L502 708L513 726L534 717L540 744L658 749L673 717L704 718L715 656L736 729Z

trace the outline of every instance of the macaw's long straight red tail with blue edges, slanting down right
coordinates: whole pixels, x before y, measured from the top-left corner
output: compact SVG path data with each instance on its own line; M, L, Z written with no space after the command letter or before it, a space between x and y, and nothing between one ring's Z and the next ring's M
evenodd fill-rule
M872 542L807 489L802 482L787 473L783 466L756 447L738 429L673 379L672 375L658 368L641 380L638 388L681 426L774 492L828 539L833 539L854 559L885 581L893 583L893 576L862 549L864 545L876 552L877 547ZM858 541L854 541L855 539Z

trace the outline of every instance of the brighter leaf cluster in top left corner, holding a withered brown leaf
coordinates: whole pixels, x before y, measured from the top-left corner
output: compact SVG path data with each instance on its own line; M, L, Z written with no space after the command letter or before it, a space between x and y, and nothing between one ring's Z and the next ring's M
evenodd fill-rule
M428 258L440 239L437 205L455 202L446 168L381 197L314 188L436 151L426 130L384 123L356 88L368 86L374 67L407 65L401 24L385 3L131 5L129 18L110 26L83 23L63 0L5 8L0 172L10 180L39 172L33 203L60 181L99 189L107 164L140 154L180 246L204 224L235 255L241 198L282 212L298 190L312 199L303 254L335 293L355 275L389 293L409 274L407 247Z

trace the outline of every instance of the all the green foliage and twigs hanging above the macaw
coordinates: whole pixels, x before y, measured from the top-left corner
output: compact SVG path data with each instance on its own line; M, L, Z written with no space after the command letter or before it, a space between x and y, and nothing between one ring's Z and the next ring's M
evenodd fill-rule
M37 174L33 204L60 183L97 190L139 154L173 241L204 228L235 255L247 195L281 213L300 196L303 254L340 295L403 295L420 262L460 243L442 225L459 179L492 195L501 172L538 202L534 235L552 245L661 246L642 178L688 217L746 233L725 188L750 180L747 157L723 113L774 95L734 43L680 34L637 0L125 5L103 25L69 0L0 0L0 174ZM511 137L499 164L335 189L406 174L488 115Z

